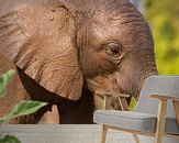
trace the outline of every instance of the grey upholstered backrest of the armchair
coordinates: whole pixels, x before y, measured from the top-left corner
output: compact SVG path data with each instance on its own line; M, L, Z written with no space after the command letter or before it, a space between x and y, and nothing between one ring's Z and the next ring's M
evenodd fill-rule
M158 100L149 98L150 95L166 95L179 97L179 76L148 77L142 88L138 105L135 111L157 114ZM175 117L171 101L168 103L167 117Z

